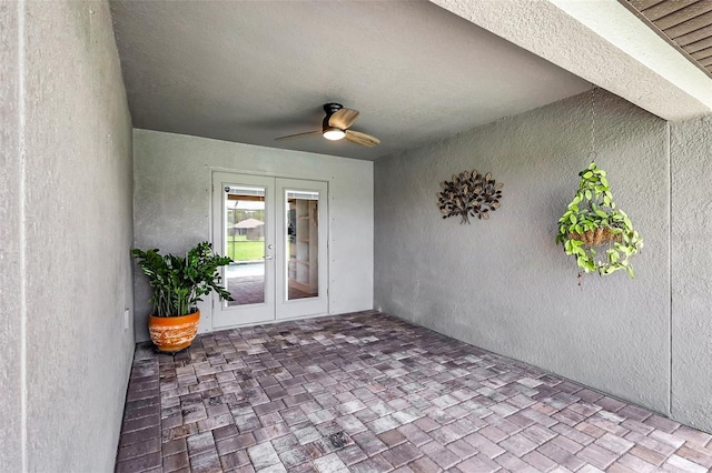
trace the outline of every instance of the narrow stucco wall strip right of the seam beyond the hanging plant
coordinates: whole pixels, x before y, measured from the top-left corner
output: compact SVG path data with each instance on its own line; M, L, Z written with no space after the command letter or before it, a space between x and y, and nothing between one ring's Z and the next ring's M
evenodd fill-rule
M712 115L671 127L673 415L712 432Z

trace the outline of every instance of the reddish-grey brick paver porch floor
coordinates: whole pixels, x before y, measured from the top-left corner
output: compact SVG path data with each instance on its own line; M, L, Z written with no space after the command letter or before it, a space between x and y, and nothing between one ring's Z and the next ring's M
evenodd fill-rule
M710 440L362 312L139 345L117 472L706 472Z

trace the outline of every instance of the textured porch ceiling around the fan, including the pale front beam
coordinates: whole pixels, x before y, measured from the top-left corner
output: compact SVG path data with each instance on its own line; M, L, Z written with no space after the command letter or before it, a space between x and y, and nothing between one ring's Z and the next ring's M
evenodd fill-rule
M712 79L616 0L112 1L134 127L375 160L602 87L663 119ZM375 148L319 135L327 102Z

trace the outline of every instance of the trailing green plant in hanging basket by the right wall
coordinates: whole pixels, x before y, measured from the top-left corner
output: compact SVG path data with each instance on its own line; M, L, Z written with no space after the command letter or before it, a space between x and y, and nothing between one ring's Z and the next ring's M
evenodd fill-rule
M616 209L604 170L592 162L578 175L578 191L558 219L556 243L563 243L586 273L625 270L635 278L630 259L643 248L643 239L625 212Z

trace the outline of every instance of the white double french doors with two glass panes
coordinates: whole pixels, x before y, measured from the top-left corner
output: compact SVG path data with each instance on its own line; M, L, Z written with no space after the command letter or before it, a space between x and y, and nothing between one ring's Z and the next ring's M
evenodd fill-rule
M327 183L214 172L212 235L233 301L212 328L328 312Z

